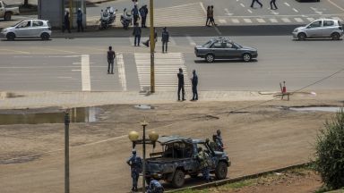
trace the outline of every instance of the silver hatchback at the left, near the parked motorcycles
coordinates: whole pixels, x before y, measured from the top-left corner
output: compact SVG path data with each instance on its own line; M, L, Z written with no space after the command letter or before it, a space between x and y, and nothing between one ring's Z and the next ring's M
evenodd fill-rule
M15 38L41 38L47 40L51 36L51 27L49 21L26 20L1 30L1 33L8 40L14 40Z

